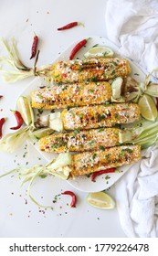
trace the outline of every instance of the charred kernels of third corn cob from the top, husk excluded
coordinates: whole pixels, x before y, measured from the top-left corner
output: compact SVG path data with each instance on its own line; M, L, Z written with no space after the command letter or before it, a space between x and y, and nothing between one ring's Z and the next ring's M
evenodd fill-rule
M65 130L111 127L117 123L133 123L139 117L139 106L134 103L86 106L61 112Z

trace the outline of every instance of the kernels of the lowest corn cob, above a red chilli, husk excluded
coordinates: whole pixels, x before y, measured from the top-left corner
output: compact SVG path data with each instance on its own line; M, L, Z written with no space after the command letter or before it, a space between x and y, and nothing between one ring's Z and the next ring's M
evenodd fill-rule
M71 176L89 175L111 167L129 165L141 159L140 145L123 145L104 151L84 152L72 155Z

